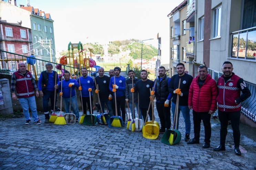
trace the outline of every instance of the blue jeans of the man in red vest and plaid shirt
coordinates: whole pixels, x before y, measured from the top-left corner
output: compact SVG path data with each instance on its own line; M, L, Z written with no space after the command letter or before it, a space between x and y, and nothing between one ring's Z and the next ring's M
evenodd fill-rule
M29 117L29 107L32 112L32 117L35 122L38 121L37 116L37 104L35 103L35 97L28 97L28 98L19 98L21 108L23 110L23 114L25 116L26 121L31 120Z

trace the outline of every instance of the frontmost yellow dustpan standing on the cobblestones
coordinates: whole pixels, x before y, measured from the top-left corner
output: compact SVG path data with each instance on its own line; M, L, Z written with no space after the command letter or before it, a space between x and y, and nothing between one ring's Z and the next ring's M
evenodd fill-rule
M143 130L143 137L146 139L156 139L159 135L159 126L156 124L147 124Z

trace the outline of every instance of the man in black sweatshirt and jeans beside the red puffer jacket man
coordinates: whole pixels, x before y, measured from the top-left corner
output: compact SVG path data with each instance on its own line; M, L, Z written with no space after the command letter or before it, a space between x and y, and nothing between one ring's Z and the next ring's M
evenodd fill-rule
M174 75L171 78L170 83L168 84L168 91L169 93L173 94L173 99L172 99L172 113L173 113L173 118L175 114L175 107L176 107L176 100L177 100L177 95L180 95L179 99L179 107L178 109L178 121L179 121L179 116L180 112L182 112L182 115L184 117L184 122L185 122L185 141L190 140L190 129L191 129L191 121L190 121L190 109L188 108L188 92L190 89L190 84L193 80L193 77L186 74L185 71L185 66L182 63L178 63L177 66L177 75ZM181 79L181 85L180 89L178 88L179 86L179 81ZM175 124L175 120L173 121ZM177 122L177 124L179 124ZM178 126L177 126L178 128Z

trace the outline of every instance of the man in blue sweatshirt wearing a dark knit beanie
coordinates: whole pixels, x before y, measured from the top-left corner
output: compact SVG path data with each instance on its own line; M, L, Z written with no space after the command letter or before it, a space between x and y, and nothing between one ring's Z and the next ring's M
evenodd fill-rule
M113 92L113 95L116 93L116 107L117 115L120 116L120 108L122 111L123 126L125 126L125 78L120 76L121 68L114 68L115 77L110 78L109 89ZM115 83L114 83L115 78ZM115 92L115 93L114 93ZM114 110L114 108L113 108Z

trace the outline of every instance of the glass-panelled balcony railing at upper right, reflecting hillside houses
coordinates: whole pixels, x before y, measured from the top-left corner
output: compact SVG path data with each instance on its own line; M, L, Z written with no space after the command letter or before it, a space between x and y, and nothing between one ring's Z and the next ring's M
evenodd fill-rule
M256 60L256 31L255 27L231 33L230 57Z

